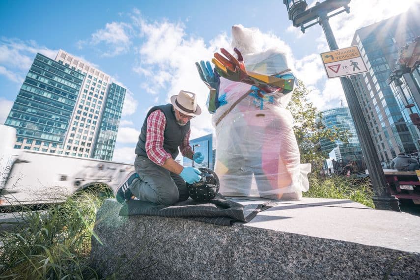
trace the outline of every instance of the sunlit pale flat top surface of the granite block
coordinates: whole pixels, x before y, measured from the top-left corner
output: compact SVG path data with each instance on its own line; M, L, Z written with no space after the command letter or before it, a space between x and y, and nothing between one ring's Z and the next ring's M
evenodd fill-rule
M267 200L230 198L244 204ZM420 252L420 217L375 210L352 200L304 197L300 201L280 201L244 225Z

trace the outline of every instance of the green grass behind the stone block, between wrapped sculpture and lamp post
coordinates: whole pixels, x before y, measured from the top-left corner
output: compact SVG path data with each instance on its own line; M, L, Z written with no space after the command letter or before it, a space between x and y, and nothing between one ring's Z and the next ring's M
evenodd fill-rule
M305 197L350 199L375 208L369 180L354 176L320 177L311 174L309 176L309 190L303 195Z

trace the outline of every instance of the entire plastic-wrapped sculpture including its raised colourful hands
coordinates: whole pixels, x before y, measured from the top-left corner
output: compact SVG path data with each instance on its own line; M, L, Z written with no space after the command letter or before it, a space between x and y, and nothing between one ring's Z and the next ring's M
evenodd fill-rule
M310 165L300 163L293 117L285 108L295 77L281 50L255 51L251 29L233 26L232 37L237 58L221 49L223 56L212 59L214 70L209 62L196 63L210 88L220 193L299 199L309 187Z

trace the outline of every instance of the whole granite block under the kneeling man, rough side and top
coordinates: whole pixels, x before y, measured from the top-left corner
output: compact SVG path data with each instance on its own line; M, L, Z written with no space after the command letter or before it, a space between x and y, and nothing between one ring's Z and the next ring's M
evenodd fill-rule
M247 197L241 203L262 200ZM406 213L304 198L277 202L251 222L228 227L119 216L120 209L107 199L96 217L100 242L92 237L91 264L102 277L420 279L419 217ZM407 235L401 238L399 229Z

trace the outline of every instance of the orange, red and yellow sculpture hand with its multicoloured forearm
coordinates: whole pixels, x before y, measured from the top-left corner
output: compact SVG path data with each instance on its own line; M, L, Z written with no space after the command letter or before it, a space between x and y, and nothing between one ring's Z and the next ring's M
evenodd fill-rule
M251 84L267 93L276 91L287 93L293 90L294 79L284 80L279 78L279 75L268 76L247 71L244 58L238 49L233 49L238 56L238 59L223 48L220 49L220 51L226 57L219 53L215 53L212 62L216 65L215 70L225 79Z

